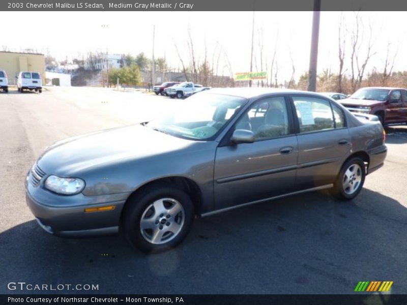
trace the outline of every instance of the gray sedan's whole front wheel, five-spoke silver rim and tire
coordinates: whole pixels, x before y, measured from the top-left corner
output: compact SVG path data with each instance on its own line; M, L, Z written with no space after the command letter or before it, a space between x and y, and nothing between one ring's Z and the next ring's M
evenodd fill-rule
M194 218L189 196L169 184L157 184L136 195L123 216L129 242L143 252L176 247L188 234Z

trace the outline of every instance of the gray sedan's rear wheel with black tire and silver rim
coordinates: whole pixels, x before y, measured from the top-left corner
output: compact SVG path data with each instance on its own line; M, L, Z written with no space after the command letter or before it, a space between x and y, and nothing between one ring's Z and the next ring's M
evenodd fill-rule
M348 169L351 169L351 167L353 167L353 171L355 173L354 174L355 180L351 181L350 187L345 189L344 184L346 184L346 181L349 181L346 171ZM357 181L359 175L361 180ZM362 190L363 184L365 182L365 177L366 177L366 166L363 160L358 157L351 158L342 165L342 168L340 169L339 174L334 182L334 187L331 190L331 194L340 200L351 200L358 196L358 194ZM353 192L351 192L352 191L351 188L354 188Z

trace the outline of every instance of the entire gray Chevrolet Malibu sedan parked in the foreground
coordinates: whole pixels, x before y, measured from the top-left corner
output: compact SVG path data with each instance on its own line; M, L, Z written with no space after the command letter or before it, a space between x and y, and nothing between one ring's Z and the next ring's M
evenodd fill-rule
M123 231L145 251L175 247L195 216L308 191L356 197L387 154L379 120L294 90L215 89L172 113L49 146L26 199L49 233Z

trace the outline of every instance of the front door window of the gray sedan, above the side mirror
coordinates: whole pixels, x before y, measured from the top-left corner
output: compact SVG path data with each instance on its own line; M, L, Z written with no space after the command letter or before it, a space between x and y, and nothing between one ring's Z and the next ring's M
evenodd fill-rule
M251 130L256 140L288 135L288 111L284 97L255 103L239 118L235 129Z

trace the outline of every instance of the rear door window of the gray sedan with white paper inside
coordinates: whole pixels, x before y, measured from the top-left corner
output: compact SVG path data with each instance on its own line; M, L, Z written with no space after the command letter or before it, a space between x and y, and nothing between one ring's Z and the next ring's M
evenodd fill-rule
M293 97L300 132L334 129L330 102L312 97Z

